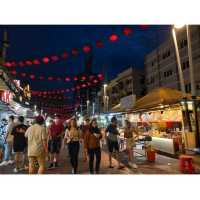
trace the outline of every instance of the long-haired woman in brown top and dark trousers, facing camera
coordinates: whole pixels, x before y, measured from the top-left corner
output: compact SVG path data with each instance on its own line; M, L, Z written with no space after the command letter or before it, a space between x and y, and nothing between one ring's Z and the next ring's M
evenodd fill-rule
M101 162L100 140L102 138L101 130L98 128L97 120L93 119L90 123L89 132L86 134L85 147L89 155L90 174L94 174L94 159L96 159L95 172L99 174Z

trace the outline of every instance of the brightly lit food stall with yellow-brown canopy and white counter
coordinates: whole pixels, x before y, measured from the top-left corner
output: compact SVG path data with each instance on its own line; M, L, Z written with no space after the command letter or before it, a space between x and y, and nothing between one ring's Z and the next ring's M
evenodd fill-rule
M187 132L181 100L191 98L170 88L153 90L136 101L126 117L137 127L141 137L152 137L151 145L158 152L176 155L184 151L193 133ZM191 143L191 142L190 142Z

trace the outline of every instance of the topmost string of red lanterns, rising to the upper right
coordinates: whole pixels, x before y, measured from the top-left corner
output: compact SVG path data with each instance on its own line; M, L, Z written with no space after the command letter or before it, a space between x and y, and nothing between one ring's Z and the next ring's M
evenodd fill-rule
M146 29L147 25L141 25L141 29ZM133 34L133 29L131 27L124 27L122 29L122 34L125 36L130 36ZM108 36L108 41L110 42L117 42L119 40L119 34L112 33ZM60 55L51 55L51 56L44 56L42 58L37 58L37 59L28 59L28 60L23 60L23 61L8 61L3 63L3 66L5 67L25 67L25 66L33 66L33 65L40 65L40 64L48 64L48 63L55 63L59 60L66 60L69 57L74 57L78 56L80 52L83 52L85 54L88 54L91 50L92 47L97 47L97 48L103 48L104 47L104 42L103 40L96 40L95 44L85 44L82 48L72 48L68 52L65 51Z

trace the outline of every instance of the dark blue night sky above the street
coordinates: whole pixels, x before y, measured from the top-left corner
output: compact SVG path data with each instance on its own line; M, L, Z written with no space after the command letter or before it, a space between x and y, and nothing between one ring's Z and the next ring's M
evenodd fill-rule
M170 26L150 25L142 29L138 25L133 28L131 36L122 34L122 25L43 25L43 26L0 26L0 41L3 30L7 29L10 47L7 52L7 61L21 61L45 56L60 55L72 48L82 48L84 44L95 45L96 40L104 42L103 48L93 47L92 70L95 73L106 73L112 79L119 72L135 66L144 67L144 55L153 50L167 37ZM118 34L119 40L111 43L108 36ZM19 72L34 73L36 76L74 76L84 70L85 55L80 52L77 57L71 57L56 63L17 67ZM22 79L22 78L21 78ZM33 90L51 90L70 87L69 82L58 81L29 81Z

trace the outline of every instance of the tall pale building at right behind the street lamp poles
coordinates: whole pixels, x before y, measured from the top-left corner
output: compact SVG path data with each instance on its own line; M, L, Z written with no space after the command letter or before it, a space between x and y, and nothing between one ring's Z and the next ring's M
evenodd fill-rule
M200 95L200 26L190 26L192 57L197 95ZM177 30L177 41L186 92L191 92L186 29ZM172 36L145 58L147 92L158 87L180 90L175 47Z

